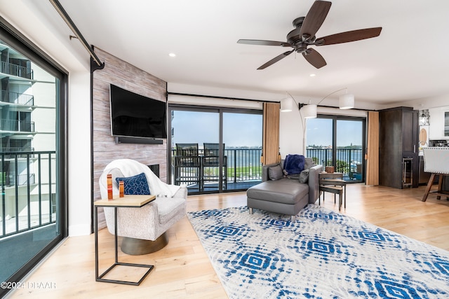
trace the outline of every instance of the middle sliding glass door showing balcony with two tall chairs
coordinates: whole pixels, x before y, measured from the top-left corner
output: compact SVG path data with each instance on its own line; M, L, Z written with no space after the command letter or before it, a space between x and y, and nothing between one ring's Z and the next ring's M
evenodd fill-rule
M189 194L260 183L262 112L170 105L170 182Z

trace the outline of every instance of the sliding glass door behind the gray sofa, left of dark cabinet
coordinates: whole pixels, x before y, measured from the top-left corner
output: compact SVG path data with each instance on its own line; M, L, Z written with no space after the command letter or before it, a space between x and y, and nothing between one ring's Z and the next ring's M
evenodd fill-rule
M366 120L342 116L318 116L307 120L307 157L333 166L346 181L364 179Z

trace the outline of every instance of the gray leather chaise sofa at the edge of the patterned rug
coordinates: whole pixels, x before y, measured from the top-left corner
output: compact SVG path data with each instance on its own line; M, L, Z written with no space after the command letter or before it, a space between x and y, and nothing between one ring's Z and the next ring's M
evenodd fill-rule
M314 165L311 158L305 160L304 169L308 170L297 176L279 173L279 167L283 170L283 161L263 165L262 183L246 191L250 214L253 214L253 209L262 209L289 215L294 221L302 208L315 203L320 195L319 173L323 171L323 166Z

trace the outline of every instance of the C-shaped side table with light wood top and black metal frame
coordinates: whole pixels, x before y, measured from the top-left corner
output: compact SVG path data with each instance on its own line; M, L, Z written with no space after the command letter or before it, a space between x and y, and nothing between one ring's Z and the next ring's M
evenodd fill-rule
M95 207L95 281L102 282L111 282L114 284L130 284L133 286L138 286L145 277L153 270L154 265L142 265L142 264L134 264L134 263L121 263L119 262L118 257L118 241L117 241L117 208L118 207L129 207L129 208L140 208L152 202L156 196L154 195L125 195L125 197L114 197L112 200L102 199L93 203ZM114 208L114 239L115 239L115 263L109 267L102 274L98 274L98 207L113 207ZM139 281L123 281L123 280L115 280L115 279L105 279L105 275L111 271L116 265L121 266L130 266L130 267L147 267L148 270L145 274L140 278Z

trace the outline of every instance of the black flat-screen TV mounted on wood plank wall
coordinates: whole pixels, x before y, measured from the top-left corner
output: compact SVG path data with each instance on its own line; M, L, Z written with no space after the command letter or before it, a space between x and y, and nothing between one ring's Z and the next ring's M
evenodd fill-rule
M110 85L113 136L167 138L166 102Z

